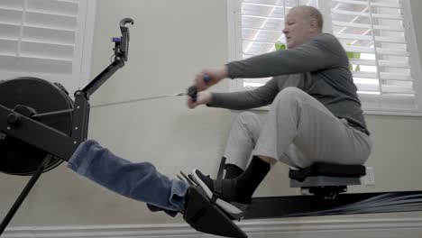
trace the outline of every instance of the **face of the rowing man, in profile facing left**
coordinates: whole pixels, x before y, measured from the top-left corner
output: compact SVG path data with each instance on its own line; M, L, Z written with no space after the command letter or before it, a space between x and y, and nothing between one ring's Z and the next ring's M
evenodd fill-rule
M286 16L283 33L289 49L298 47L315 33L310 21L304 17L302 10L292 9Z

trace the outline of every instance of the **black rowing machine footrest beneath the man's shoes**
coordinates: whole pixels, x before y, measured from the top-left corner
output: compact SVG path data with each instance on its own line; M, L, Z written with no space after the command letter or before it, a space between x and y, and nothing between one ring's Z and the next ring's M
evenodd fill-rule
M248 237L220 208L211 203L199 187L188 188L183 218L195 230L202 233L238 238Z

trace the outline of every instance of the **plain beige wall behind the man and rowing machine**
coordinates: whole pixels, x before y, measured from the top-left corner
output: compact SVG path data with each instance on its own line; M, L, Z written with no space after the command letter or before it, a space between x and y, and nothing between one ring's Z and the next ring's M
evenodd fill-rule
M135 20L130 59L93 96L93 105L184 91L198 69L219 66L227 60L225 0L119 3L97 1L92 76L108 65L112 54L109 38L119 34L117 23L129 16ZM411 4L413 9L422 9L417 0ZM415 11L414 21L421 22L422 14ZM422 27L416 24L416 29L420 42ZM227 88L225 81L214 90ZM189 110L184 100L180 97L93 109L89 137L128 160L151 161L166 175L196 167L215 174L235 113L205 107ZM376 186L352 191L422 189L422 118L367 115L367 121L374 143L368 165L375 168ZM28 179L0 175L0 217ZM288 187L287 168L278 165L257 195L297 193ZM62 165L41 177L11 226L178 222L182 221L151 214L144 204L100 188Z

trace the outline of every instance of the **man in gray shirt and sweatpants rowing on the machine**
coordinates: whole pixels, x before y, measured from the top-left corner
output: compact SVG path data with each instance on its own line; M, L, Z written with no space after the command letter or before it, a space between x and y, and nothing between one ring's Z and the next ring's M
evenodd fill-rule
M361 102L340 42L321 33L323 18L311 6L289 11L283 33L288 50L234 61L220 69L203 69L196 78L197 105L244 110L271 105L266 115L239 114L225 149L226 178L221 199L249 204L255 189L278 160L296 168L316 161L363 164L372 143ZM205 83L202 78L209 76ZM266 78L252 91L209 93L223 78ZM250 165L247 161L252 155ZM244 170L244 171L243 171ZM238 177L237 177L238 176ZM193 177L208 194L214 180L194 170Z

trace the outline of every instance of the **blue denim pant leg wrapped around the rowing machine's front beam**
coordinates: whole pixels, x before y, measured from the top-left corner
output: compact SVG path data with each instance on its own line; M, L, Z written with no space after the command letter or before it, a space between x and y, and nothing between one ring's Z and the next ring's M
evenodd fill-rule
M68 168L124 197L173 211L188 191L187 183L162 175L151 163L124 160L93 140L78 146Z

